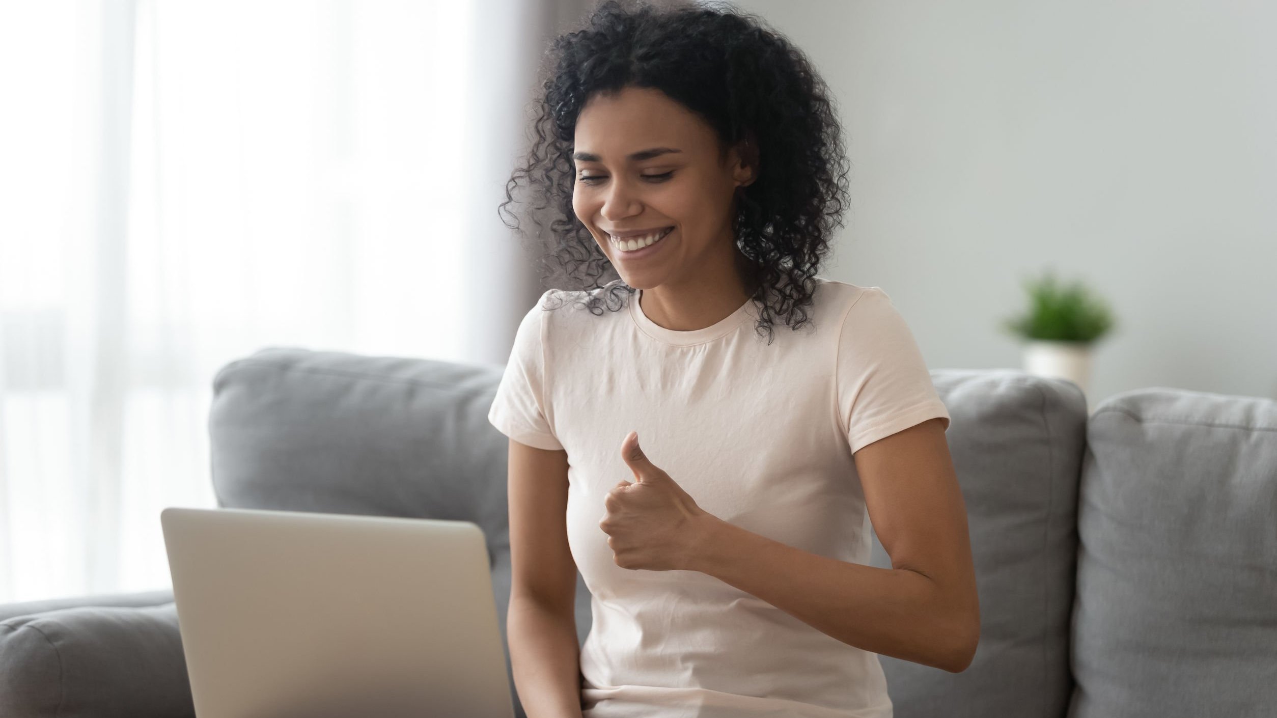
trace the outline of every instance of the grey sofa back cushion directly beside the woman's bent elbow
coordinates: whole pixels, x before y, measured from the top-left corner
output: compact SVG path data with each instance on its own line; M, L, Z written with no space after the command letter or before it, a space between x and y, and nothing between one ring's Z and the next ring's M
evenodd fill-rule
M936 369L979 592L972 664L880 655L895 714L1060 718L1068 708L1077 491L1087 406L1077 385L1011 369ZM871 565L891 560L873 534Z

